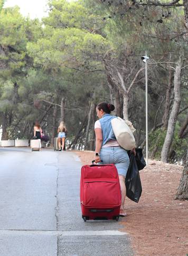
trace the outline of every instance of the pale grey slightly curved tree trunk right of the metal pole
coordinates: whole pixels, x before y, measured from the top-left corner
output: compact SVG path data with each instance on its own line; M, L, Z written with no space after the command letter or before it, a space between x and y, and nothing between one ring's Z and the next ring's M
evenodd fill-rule
M180 109L180 84L181 84L181 68L182 68L183 61L180 58L177 61L175 74L174 74L174 103L172 107L172 111L170 114L170 118L168 120L168 128L166 132L165 141L163 144L162 152L161 152L161 161L168 162L168 154L170 151L171 143L173 140L175 124L177 121L177 115Z

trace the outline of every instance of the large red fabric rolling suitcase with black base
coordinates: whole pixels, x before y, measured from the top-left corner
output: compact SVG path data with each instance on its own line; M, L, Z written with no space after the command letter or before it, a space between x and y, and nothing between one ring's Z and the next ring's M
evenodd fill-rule
M118 221L121 191L118 172L114 164L82 166L80 202L84 221Z

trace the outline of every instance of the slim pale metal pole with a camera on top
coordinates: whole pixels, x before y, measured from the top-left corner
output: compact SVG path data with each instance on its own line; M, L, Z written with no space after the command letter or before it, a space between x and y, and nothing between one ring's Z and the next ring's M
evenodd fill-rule
M147 52L145 56L142 56L141 59L145 62L145 77L146 77L146 164L148 164L148 94L147 94L147 60L149 57L147 56Z

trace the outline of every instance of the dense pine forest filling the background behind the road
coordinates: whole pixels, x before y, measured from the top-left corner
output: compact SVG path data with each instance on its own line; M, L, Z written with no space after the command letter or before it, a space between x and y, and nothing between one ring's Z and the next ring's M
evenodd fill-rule
M2 140L33 136L38 120L53 144L93 150L96 105L115 105L145 149L145 51L149 157L182 161L188 135L188 2L50 0L42 21L0 0ZM36 6L37 8L37 6Z

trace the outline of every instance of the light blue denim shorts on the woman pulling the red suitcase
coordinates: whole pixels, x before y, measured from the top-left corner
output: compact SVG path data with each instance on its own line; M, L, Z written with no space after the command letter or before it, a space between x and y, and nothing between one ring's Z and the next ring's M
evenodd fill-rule
M114 163L118 175L126 177L129 167L129 157L127 151L121 147L105 147L100 150L100 159L103 164Z

